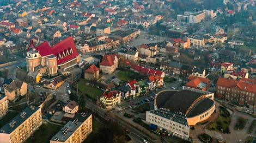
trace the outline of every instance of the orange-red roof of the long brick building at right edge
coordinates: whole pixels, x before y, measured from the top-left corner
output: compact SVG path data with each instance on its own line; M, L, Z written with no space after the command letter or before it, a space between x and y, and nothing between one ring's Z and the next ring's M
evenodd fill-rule
M242 80L236 81L236 80L230 80L230 79L225 79L223 77L219 77L216 85L223 86L223 87L237 86L243 91L256 93L256 90L255 90L256 85L252 83L243 82Z

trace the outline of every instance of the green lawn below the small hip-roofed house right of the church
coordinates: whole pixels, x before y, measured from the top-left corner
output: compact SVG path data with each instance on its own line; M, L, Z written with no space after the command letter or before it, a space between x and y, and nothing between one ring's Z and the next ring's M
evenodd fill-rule
M78 84L78 90L82 92L83 94L89 95L92 99L97 100L97 96L100 96L103 91L92 86L87 86L86 83L89 81L86 79L80 79L80 81L74 83L73 87L76 88Z

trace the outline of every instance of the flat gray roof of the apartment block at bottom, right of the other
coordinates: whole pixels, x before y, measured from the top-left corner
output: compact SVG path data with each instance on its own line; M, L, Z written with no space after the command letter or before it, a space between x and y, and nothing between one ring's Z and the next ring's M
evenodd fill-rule
M83 124L83 122L89 118L90 115L92 114L86 114L85 117L82 117L81 113L77 113L74 118L72 118L64 127L62 127L62 129L60 129L60 131L56 135L52 137L51 140L54 141L55 138L58 138L59 142L65 142L67 139L70 138L72 134L74 134L77 128L79 128ZM72 121L74 121L75 119L78 119L78 121L76 122L77 126L75 126L75 122L72 123ZM66 132L68 134L66 135L63 134L65 128L69 128L68 132Z

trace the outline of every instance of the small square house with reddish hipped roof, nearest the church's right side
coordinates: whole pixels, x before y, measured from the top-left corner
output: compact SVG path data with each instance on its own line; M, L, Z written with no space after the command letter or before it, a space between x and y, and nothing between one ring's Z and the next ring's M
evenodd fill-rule
M84 79L87 80L97 80L100 76L100 69L94 64L88 69L84 70Z

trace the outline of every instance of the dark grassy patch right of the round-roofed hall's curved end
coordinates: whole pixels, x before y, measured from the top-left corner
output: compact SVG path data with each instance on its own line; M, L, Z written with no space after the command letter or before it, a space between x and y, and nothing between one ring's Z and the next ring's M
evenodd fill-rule
M222 113L224 113L224 112L223 112L222 109L221 109L221 113L220 113L220 115L218 116L218 118L217 118L214 122L212 122L212 124L211 124L210 126L208 126L207 129L211 130L212 127L214 127L214 128L215 128L215 131L221 133L221 131L219 131L219 130L217 129L217 126L220 126L220 125L217 124L217 122L221 122L221 124L222 124L221 126L222 126L222 128L223 128L223 131L224 131L226 128L228 128L228 124L225 123L225 122L229 122L229 121L230 121L230 116L227 116L227 117L225 118L224 116L221 115ZM224 121L225 121L225 122L224 122Z

